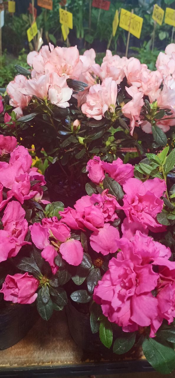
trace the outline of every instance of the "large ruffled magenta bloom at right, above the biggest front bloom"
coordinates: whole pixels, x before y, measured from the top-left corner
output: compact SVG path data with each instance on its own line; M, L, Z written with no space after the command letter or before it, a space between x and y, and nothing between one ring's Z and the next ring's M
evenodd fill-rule
M160 197L166 190L164 180L154 178L142 183L137 178L129 178L123 185L126 193L123 198L123 210L129 223L138 222L153 232L163 231L156 216L163 209Z

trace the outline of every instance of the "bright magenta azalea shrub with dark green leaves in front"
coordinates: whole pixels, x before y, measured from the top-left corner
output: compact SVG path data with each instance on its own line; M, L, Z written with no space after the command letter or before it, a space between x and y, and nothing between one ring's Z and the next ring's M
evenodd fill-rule
M8 160L14 147L3 138ZM29 158L18 146L0 172L17 166L30 175ZM170 373L175 368L175 185L168 175L174 165L169 146L157 155L147 153L135 166L94 156L86 167L87 195L74 208L43 203L33 189L20 202L14 188L2 183L14 198L7 198L8 204L2 200L1 264L13 257L17 270L4 274L4 300L35 302L45 320L53 310L63 310L68 298L81 309L89 303L83 312L107 348L120 355L142 345L149 363ZM14 181L23 177L20 173ZM44 184L41 176L36 181L31 186Z

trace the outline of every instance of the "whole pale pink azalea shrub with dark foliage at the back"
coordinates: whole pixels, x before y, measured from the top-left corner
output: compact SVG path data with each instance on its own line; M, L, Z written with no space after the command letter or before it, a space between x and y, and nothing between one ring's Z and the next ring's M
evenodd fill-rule
M175 44L160 53L155 71L134 57L51 44L28 54L0 101L1 133L37 156L44 148L60 171L80 177L94 155L112 162L123 151L140 156L174 146Z

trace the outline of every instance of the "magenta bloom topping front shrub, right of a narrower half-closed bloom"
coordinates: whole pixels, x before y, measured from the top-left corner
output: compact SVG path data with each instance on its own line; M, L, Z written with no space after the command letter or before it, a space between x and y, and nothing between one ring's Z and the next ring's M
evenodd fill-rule
M134 166L123 164L120 158L114 160L112 163L102 161L102 167L109 174L109 177L112 177L121 185L125 184L130 177L134 177Z

